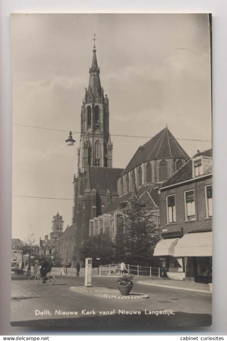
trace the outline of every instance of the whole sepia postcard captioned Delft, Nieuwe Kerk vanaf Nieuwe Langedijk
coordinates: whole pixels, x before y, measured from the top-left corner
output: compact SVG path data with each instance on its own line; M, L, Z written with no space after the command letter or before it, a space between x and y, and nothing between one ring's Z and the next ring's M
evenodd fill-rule
M211 326L211 18L11 15L12 326Z

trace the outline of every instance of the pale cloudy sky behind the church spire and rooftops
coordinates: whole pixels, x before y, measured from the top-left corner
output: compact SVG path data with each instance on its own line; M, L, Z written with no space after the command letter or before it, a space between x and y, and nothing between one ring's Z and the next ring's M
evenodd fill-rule
M93 33L110 134L152 137L168 124L190 156L211 148L192 141L212 136L207 14L13 14L13 238L31 226L38 243L57 210L71 224L80 134L65 140L80 132ZM149 138L111 140L113 166L125 168Z

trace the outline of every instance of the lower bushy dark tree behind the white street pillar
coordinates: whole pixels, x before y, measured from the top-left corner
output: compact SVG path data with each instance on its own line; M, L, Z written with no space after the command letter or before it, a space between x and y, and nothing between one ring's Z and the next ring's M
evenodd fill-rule
M80 248L80 258L85 262L85 258L92 258L92 266L97 267L100 258L101 264L111 264L115 260L115 243L108 233L100 233L86 237Z

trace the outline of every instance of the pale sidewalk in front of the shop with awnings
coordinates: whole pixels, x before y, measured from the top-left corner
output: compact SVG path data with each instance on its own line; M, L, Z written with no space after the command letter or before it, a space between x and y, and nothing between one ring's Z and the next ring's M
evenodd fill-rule
M174 280L163 280L161 278L151 278L142 280L141 277L137 281L139 284L159 286L163 288L186 290L186 291L196 291L200 293L212 294L212 289L210 290L210 285L205 283L194 283L194 282L184 282L184 281L174 281Z

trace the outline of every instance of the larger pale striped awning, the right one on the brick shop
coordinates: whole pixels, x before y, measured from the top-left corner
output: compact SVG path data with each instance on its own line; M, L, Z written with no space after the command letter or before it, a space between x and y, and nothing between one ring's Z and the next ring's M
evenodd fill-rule
M212 256L212 232L189 233L179 239L174 257Z

